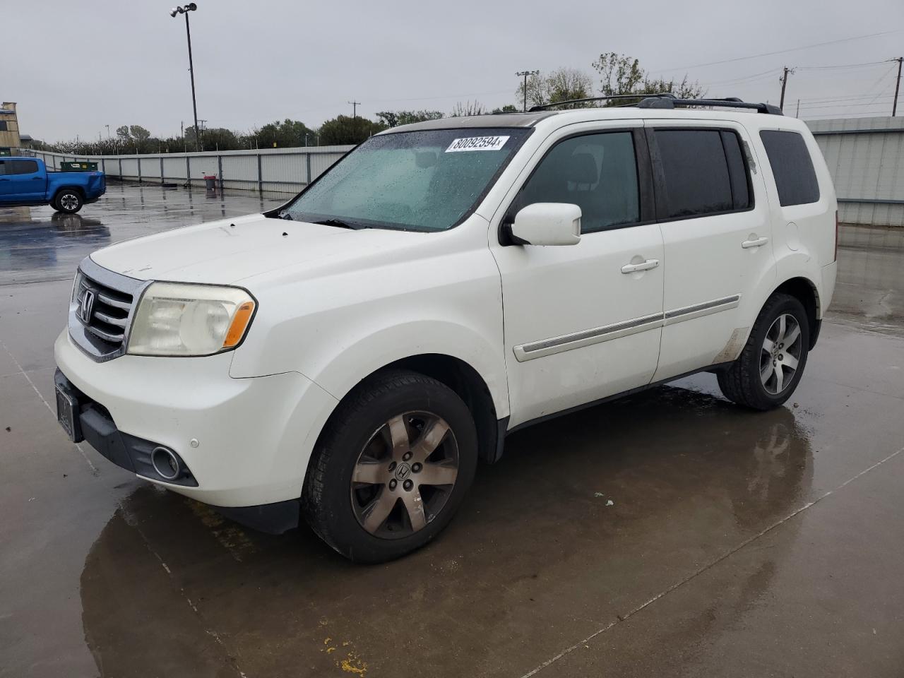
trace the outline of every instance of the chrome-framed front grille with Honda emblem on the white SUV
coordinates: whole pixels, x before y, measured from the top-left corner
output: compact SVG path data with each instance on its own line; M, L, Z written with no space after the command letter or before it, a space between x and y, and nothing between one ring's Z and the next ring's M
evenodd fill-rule
M69 334L97 361L126 353L128 327L141 290L148 283L82 260L72 289Z

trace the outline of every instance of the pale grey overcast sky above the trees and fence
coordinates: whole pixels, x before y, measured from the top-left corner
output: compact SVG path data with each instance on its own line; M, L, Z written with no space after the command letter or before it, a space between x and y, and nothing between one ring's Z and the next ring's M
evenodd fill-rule
M600 52L634 56L657 75L686 72L713 97L774 103L781 67L796 66L786 113L794 115L801 99L801 118L890 115L897 63L870 62L904 54L901 0L198 5L191 15L198 117L234 130L282 118L315 127L351 114L352 99L371 118L387 109L448 112L467 99L492 108L514 103L515 71L568 66L596 75L590 63ZM165 137L179 133L180 121L189 125L185 24L170 7L2 0L0 16L14 30L3 38L0 99L18 102L22 132L56 141L138 124ZM874 35L699 65L867 34Z

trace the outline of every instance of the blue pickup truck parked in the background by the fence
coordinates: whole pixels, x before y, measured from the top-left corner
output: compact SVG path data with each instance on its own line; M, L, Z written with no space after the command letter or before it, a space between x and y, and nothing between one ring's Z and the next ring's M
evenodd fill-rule
M39 158L0 158L0 207L47 204L74 214L106 192L103 172L48 172Z

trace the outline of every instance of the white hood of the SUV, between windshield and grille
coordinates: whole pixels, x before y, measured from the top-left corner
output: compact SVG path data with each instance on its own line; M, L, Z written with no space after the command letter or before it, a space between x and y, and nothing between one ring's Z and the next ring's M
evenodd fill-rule
M347 267L422 242L425 233L351 230L250 214L125 240L91 255L140 280L240 284L286 268ZM389 250L389 251L388 251ZM360 263L355 261L355 263Z

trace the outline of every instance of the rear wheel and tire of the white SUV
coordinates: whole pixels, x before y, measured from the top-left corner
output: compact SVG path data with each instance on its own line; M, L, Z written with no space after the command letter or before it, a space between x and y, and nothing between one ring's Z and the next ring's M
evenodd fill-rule
M738 359L719 373L719 388L732 402L753 410L777 408L797 388L809 346L804 305L796 297L774 294L759 312Z

